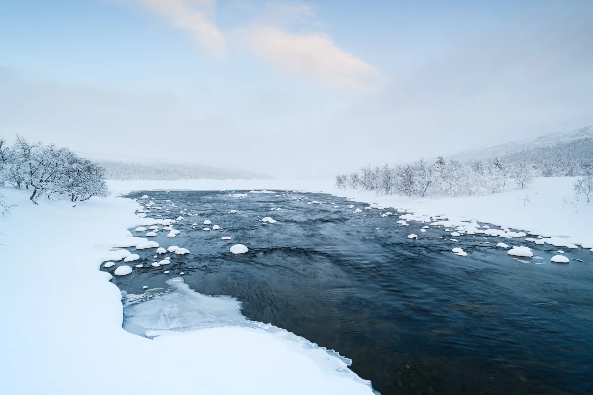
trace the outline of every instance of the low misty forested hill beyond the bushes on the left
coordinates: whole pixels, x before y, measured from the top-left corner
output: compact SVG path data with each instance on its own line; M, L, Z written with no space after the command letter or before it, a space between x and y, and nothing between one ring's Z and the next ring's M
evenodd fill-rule
M119 160L96 160L106 171L107 179L271 179L269 175L195 163L140 163Z

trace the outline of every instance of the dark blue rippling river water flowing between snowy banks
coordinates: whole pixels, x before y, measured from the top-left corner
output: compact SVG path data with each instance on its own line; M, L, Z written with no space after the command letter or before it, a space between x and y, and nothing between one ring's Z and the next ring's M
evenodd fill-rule
M183 271L192 290L237 298L249 320L352 359L350 368L383 395L593 393L593 253L564 248L570 263L554 264L558 248L524 238L462 235L455 243L436 237L448 235L444 227L420 233L426 223L398 225L402 213L393 209L354 214L350 204L365 204L286 192L127 195L154 198L162 209L149 217L175 219L185 210L174 224L180 235L161 230L150 239L191 253L155 268L155 250L141 251L130 265L145 267L114 276L114 284L142 294L143 286L169 288L165 281ZM394 215L381 217L385 211ZM278 223L262 224L266 216ZM206 219L224 232L203 231ZM410 233L420 239L407 239ZM498 242L528 245L534 258L512 258ZM248 253L229 253L238 243ZM468 256L452 253L455 247Z

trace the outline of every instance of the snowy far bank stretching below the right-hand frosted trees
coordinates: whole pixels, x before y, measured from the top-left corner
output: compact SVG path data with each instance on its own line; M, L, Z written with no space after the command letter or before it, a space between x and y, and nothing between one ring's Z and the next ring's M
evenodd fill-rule
M544 237L565 237L571 243L593 248L593 204L576 202L572 183L576 177L535 178L525 190L510 187L484 196L407 198L376 195L374 191L339 190L333 180L178 180L108 181L114 191L130 190L306 190L323 191L358 203L377 203L384 208L404 208L426 215L451 219L475 219L497 226L508 226ZM528 195L529 202L522 199ZM584 247L584 248L585 248Z

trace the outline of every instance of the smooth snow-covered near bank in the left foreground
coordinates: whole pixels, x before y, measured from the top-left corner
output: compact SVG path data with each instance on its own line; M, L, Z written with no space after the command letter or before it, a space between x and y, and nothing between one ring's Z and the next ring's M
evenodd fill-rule
M282 332L218 327L154 340L126 332L120 291L99 267L104 248L130 244L136 203L110 197L73 208L2 193L18 207L0 222L1 393L372 393L340 359Z

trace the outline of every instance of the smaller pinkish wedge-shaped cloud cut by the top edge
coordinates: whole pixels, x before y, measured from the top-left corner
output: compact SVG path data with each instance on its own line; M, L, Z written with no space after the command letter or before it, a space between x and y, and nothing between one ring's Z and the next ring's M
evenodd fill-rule
M135 0L161 14L174 26L189 31L200 47L215 57L224 56L225 38L209 15L215 0Z

